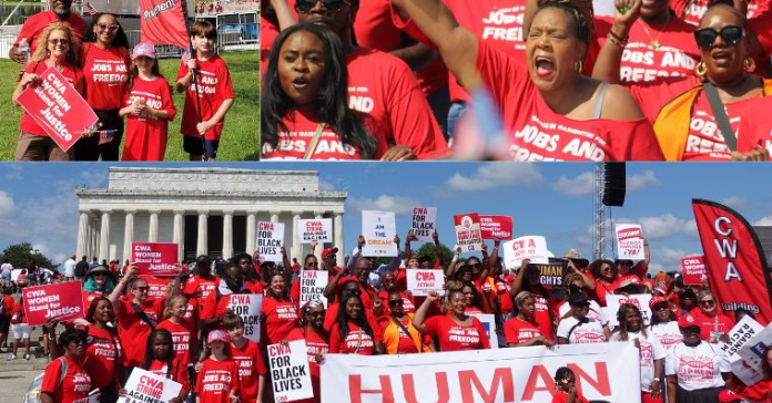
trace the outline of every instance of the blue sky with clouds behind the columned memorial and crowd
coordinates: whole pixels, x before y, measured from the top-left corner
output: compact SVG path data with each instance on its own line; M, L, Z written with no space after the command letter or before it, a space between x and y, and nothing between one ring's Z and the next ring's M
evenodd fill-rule
M192 165L164 163L162 166ZM318 170L323 189L348 192L344 216L346 250L356 242L363 209L395 211L397 231L404 239L412 207L426 206L438 208L440 241L449 247L455 244L453 216L479 213L511 215L515 237L542 235L556 256L570 248L579 249L582 257L592 255L592 164L217 163L217 166ZM88 163L0 164L0 248L30 241L54 262L63 261L77 244L74 189L106 186L108 167L108 164ZM769 164L629 163L624 207L610 209L607 219L642 225L650 241L651 269L674 270L679 268L680 257L702 252L691 198L723 203L753 225L772 225L771 177ZM612 237L607 239L611 245ZM607 255L612 257L612 251L609 249Z

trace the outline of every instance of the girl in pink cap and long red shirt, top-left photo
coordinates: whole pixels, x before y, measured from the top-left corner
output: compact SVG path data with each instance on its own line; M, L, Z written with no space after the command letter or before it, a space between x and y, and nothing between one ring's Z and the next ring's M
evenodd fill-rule
M121 116L128 116L122 161L163 161L169 122L176 115L172 90L159 70L152 43L139 43L132 58L125 106L120 111Z

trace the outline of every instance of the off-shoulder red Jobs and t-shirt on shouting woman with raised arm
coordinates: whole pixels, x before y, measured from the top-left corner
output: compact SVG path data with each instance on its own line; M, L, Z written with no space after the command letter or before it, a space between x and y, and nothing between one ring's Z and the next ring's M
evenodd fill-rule
M528 69L479 42L477 69L490 86L518 161L661 161L654 131L646 118L631 122L575 121L552 112Z

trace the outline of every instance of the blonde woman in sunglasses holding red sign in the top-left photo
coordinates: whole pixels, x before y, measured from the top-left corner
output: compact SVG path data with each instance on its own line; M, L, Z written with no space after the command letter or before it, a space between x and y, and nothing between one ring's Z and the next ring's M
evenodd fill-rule
M54 22L40 34L40 44L32 54L31 61L24 68L24 75L13 91L13 105L21 106L19 96L24 90L42 82L41 75L48 69L55 69L67 80L68 84L83 93L83 71L78 68L80 62L80 41L69 25ZM35 122L34 117L24 111L20 123L21 135L17 144L16 161L71 161L72 148L64 152L49 137L48 133ZM80 134L72 134L80 136Z

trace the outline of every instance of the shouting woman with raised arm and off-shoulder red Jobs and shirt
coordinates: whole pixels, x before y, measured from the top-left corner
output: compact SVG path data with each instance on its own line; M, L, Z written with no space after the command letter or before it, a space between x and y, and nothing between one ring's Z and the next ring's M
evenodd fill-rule
M492 92L508 157L518 161L662 159L650 123L614 85L581 74L592 1L529 0L526 64L461 28L439 0L398 0L467 89ZM534 6L538 4L538 6Z

